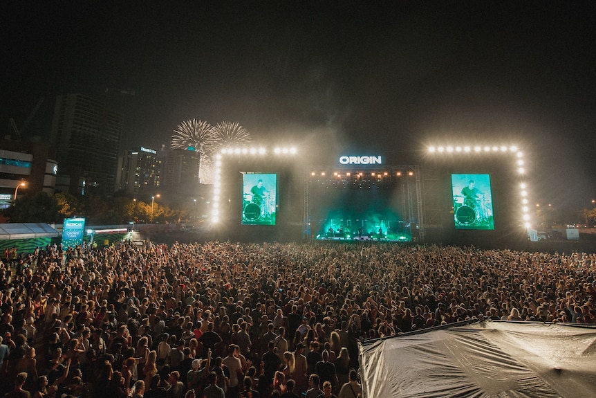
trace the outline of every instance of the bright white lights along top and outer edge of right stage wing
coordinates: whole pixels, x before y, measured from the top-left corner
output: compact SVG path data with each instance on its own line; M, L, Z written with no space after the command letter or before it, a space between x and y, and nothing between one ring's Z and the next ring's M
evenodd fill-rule
M524 161L523 161L523 152L521 152L518 147L515 145L507 146L507 145L476 145L474 147L466 145L466 146L429 146L428 148L431 154L438 153L438 154L452 154L452 153L500 153L500 154L514 154L516 161L515 166L517 168L517 172L520 176L521 182L519 183L520 188L520 196L521 196L521 219L523 220L523 226L528 229L532 227L530 222L530 206L528 206L528 186L523 181L523 177L525 176L525 168Z

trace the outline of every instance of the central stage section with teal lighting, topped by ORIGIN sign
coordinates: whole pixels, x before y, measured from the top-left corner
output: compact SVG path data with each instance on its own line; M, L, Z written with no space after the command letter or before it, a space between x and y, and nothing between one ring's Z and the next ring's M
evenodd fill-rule
M384 165L382 156L342 156L307 176L304 237L424 242L419 165Z

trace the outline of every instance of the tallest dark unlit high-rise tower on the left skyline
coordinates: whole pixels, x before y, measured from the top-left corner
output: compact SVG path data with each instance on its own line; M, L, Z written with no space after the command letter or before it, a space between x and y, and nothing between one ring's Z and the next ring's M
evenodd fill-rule
M50 147L57 154L59 174L71 181L84 179L86 192L114 192L121 134L122 115L104 102L83 94L57 96Z

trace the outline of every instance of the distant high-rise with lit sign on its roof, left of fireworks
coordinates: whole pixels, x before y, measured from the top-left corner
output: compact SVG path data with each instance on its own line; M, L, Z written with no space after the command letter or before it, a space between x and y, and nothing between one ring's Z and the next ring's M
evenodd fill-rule
M156 150L140 147L124 152L118 162L116 186L127 194L155 193L162 185L163 161Z

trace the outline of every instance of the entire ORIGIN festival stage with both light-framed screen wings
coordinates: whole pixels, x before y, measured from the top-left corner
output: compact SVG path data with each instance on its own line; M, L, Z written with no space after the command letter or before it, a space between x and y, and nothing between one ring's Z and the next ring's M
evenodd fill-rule
M295 149L225 149L214 164L213 237L525 242L531 220L523 157L510 145L445 145L387 158L349 154L313 167Z

